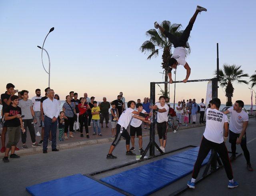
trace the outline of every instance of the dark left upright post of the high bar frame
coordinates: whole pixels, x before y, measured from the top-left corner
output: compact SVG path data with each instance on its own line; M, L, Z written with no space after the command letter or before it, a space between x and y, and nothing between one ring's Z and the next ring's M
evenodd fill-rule
M156 97L156 88L155 83L150 82L150 105L155 104L155 97ZM155 112L153 111L152 115L152 121L150 125L150 148L149 148L149 154L150 156L155 156Z

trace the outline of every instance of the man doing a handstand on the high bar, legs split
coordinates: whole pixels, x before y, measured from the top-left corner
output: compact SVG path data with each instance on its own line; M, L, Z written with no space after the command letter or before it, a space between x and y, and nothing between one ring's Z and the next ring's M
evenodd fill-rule
M162 28L157 22L154 23L154 26L156 29L159 28L160 32L165 34L166 37L169 39L170 42L174 45L174 51L172 54L172 57L170 58L168 65L170 69L168 70L168 76L170 79L170 83L172 83L172 68L176 69L177 65L183 65L184 68L187 70L187 75L186 78L183 80L184 83L188 81L188 77L190 76L190 67L188 63L186 62L186 43L188 41L188 38L190 36L190 31L192 30L193 24L196 20L196 16L198 15L199 12L202 11L207 11L206 8L203 8L201 6L196 7L196 12L190 19L188 26L186 29L183 31L182 35L179 37L174 36L170 32L166 31L164 28Z

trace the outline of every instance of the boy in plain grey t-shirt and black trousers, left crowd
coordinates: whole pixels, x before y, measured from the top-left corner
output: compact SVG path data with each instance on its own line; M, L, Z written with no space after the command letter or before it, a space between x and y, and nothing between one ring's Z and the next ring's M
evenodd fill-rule
M30 137L32 140L32 147L40 147L40 145L36 143L36 134L34 129L34 123L36 123L36 117L33 110L33 103L30 99L28 99L28 91L23 90L20 92L20 95L22 99L19 101L18 106L21 108L22 115L24 115L24 117L22 118L24 129L26 130L28 127ZM21 135L22 148L24 149L28 149L28 146L26 145L26 139L27 139L27 130Z

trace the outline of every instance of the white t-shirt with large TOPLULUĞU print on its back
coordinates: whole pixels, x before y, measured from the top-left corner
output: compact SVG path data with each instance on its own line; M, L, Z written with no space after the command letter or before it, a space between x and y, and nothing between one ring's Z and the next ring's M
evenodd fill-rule
M224 123L228 123L227 115L217 109L208 108L206 111L204 137L209 141L221 144L224 141Z

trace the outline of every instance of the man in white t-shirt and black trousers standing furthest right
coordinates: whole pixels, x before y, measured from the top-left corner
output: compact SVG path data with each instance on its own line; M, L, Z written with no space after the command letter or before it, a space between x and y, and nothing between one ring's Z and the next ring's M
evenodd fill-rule
M250 153L246 145L246 128L248 125L248 114L242 110L244 102L241 100L236 101L233 107L224 111L225 114L230 113L229 123L229 143L231 143L232 156L230 159L236 159L236 145L241 146L247 162L247 169L253 171L250 162Z

